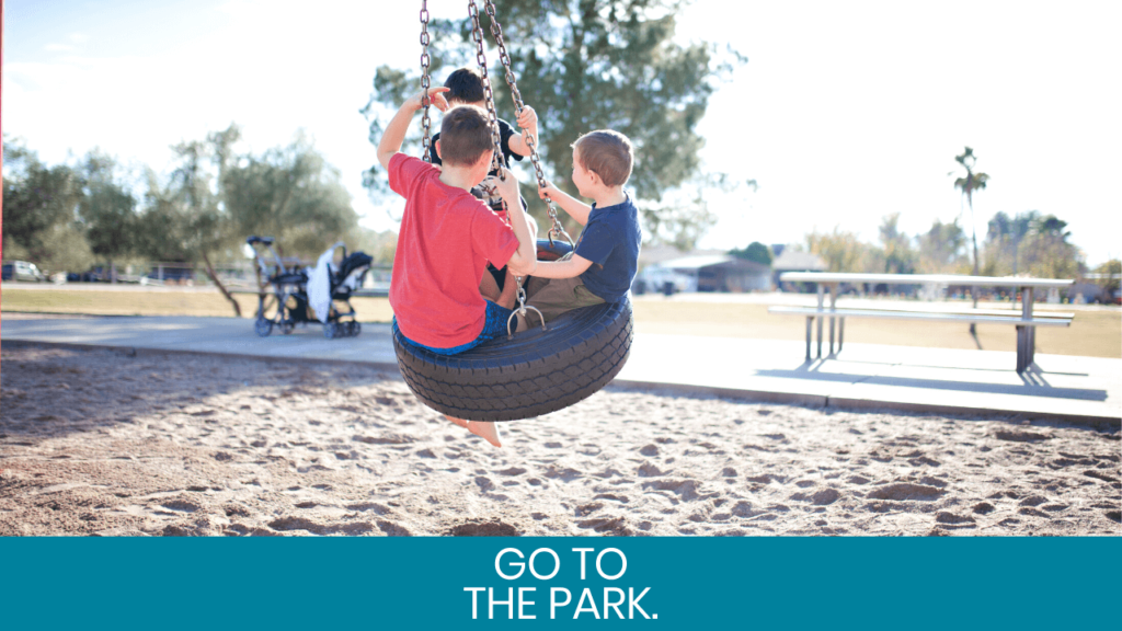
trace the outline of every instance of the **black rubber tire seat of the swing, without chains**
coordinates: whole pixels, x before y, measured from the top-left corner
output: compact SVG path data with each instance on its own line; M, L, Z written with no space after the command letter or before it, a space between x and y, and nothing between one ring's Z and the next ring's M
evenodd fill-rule
M397 366L425 405L459 419L513 421L568 408L590 396L624 367L634 337L628 298L585 307L549 323L438 355L404 340L394 327Z

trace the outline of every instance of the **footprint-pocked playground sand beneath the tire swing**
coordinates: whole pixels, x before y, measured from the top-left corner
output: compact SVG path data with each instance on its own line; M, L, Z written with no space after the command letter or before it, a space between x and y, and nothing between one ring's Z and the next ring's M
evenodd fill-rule
M4 348L0 534L1119 534L1120 432L608 388L504 448L361 366Z

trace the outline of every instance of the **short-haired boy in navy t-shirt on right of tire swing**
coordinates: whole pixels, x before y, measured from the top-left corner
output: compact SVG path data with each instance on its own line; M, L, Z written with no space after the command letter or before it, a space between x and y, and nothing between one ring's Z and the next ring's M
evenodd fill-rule
M618 131L591 131L572 144L572 182L586 204L548 184L537 194L549 195L585 227L577 248L554 262L539 262L526 283L526 304L549 322L565 311L615 302L629 290L638 267L643 232L638 211L624 184L631 177L634 152ZM518 318L518 330L541 326L537 313Z

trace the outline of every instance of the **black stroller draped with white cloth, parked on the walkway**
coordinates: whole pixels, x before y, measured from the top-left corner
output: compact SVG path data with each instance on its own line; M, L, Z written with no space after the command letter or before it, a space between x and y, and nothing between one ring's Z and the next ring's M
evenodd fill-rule
M323 324L323 336L328 339L355 337L362 326L355 319L355 308L350 303L351 293L362 286L370 269L373 258L362 252L347 255L347 247L340 241L323 253L315 267L301 269L298 263L285 266L273 247L273 237L249 237L246 244L254 249L261 278L267 280L272 290L261 291L257 303L257 319L254 331L267 337L274 328L288 335L296 324L310 322ZM343 248L343 258L335 265L335 249ZM266 250L273 255L275 264L265 260ZM342 303L337 304L338 303ZM340 310L346 305L346 311ZM313 317L309 309L314 310Z

